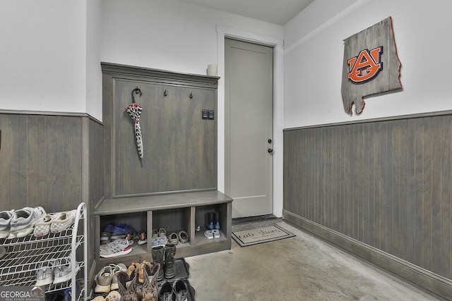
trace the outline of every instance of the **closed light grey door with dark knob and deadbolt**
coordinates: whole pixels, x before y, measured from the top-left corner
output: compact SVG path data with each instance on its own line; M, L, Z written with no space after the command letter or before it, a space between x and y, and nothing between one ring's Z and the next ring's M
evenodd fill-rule
M232 218L273 214L273 48L225 39L225 193Z

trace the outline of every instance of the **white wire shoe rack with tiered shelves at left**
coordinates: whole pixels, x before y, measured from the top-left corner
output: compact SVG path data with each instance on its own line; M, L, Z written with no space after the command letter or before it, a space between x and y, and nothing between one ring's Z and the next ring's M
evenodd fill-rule
M0 286L34 286L37 271L43 264L62 258L70 258L72 264L71 281L45 285L46 293L71 288L73 301L88 298L85 283L88 279L86 238L86 205L77 207L76 220L71 228L60 233L49 233L40 238L30 234L23 238L0 239L0 246L5 247L6 254L0 259ZM83 223L81 223L81 221ZM83 245L83 259L77 258L78 247ZM78 257L82 257L80 254ZM77 260L78 259L78 260ZM83 269L83 276L78 272ZM83 277L83 278L81 278ZM76 283L79 287L76 287Z

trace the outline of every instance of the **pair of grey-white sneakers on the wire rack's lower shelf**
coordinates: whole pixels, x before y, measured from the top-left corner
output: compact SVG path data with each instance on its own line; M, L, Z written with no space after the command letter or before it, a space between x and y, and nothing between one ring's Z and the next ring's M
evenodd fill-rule
M61 259L51 259L40 265L37 270L36 283L37 286L47 284L64 283L72 278L72 265L69 257Z

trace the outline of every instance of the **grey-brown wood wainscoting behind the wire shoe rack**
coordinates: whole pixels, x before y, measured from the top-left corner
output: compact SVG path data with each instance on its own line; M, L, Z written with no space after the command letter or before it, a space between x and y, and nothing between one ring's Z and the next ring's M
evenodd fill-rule
M87 114L0 111L0 211L76 209L85 202L88 233L103 198L103 125ZM94 237L88 239L94 260Z

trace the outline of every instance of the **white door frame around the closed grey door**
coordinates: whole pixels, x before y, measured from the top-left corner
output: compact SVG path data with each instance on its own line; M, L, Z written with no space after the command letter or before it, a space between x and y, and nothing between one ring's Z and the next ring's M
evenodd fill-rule
M218 49L218 190L225 191L225 38L273 47L273 215L283 216L284 82L283 38L217 25Z

